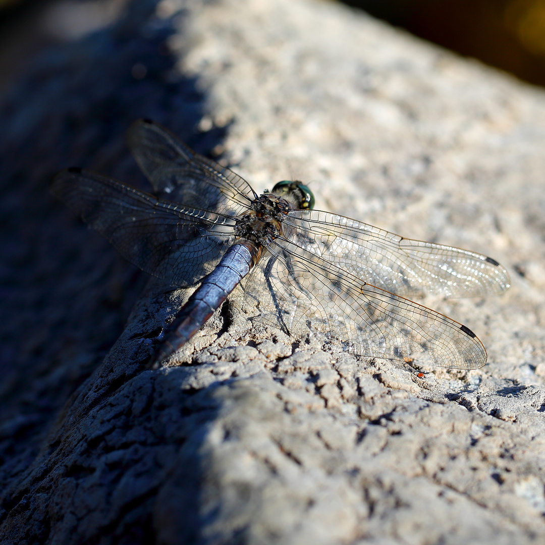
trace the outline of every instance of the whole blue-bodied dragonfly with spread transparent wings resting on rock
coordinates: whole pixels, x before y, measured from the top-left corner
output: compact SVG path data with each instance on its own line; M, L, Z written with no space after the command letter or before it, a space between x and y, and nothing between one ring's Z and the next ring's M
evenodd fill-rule
M51 191L129 262L174 288L198 286L158 337L157 362L240 284L257 319L290 336L371 358L486 364L471 329L411 299L502 294L510 280L495 259L315 210L300 181L258 195L149 119L134 122L127 140L153 192L75 167Z

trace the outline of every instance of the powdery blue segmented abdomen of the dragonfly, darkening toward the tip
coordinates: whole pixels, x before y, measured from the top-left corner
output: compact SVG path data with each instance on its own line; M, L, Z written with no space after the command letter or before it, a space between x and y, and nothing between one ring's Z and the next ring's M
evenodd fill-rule
M233 244L216 268L181 308L157 351L156 361L168 358L201 329L257 263L260 248L250 242Z

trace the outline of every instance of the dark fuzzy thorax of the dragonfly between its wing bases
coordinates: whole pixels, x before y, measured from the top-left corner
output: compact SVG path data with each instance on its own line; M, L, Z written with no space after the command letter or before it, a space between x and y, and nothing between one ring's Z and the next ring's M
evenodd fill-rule
M267 246L282 234L282 218L288 213L286 199L264 193L250 205L250 210L237 218L235 235L260 246Z

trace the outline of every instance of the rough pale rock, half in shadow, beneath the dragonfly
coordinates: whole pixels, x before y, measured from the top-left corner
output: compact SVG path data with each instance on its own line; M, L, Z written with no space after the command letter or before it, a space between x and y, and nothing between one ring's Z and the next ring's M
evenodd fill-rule
M1 542L543 543L545 93L335 3L128 9L0 111ZM47 195L69 164L144 187L143 116L258 191L310 181L317 208L498 259L504 298L423 301L488 365L305 346L235 293L146 368L187 294L150 281L122 332L146 278Z

